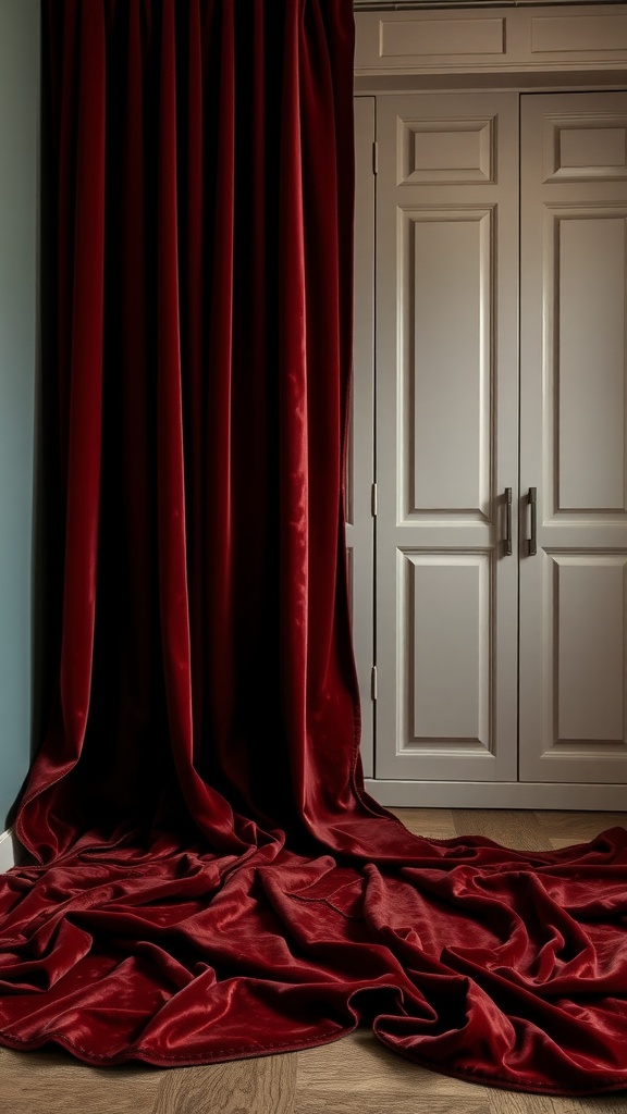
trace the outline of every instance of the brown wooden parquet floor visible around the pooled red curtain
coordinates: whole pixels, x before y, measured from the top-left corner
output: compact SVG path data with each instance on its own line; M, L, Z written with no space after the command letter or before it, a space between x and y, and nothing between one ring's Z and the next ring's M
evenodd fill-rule
M627 812L395 809L437 839L488 836L546 850L587 841ZM358 1030L288 1056L172 1071L91 1068L61 1053L0 1049L0 1114L627 1114L627 1094L550 1098L461 1083Z

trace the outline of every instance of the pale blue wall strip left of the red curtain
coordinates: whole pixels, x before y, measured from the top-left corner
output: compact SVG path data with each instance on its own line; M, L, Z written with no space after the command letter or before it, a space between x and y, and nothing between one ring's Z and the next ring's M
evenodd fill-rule
M39 0L0 0L0 831L28 770Z

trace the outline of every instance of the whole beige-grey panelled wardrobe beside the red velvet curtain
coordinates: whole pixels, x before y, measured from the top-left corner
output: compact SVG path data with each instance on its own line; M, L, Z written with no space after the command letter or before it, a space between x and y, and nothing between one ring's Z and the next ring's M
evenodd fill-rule
M498 41L500 12L474 12L490 27L470 38L469 11L445 13L447 39L438 12L358 22L358 63L375 41L380 69L393 49L403 62L399 80L366 55L356 98L347 534L365 771L387 804L619 809L627 92L520 75L474 88L464 65L478 35ZM407 51L428 36L434 70L471 43L467 88L421 87L437 82Z

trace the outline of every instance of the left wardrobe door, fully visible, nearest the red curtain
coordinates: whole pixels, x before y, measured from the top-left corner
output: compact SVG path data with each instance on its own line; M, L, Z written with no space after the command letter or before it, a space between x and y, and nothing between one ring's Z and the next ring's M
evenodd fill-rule
M512 780L518 95L382 96L377 145L375 775Z

